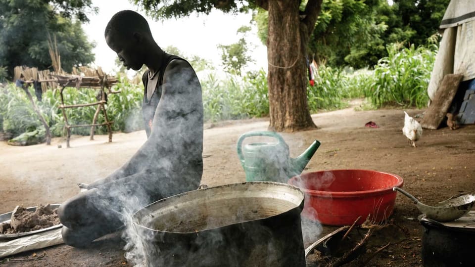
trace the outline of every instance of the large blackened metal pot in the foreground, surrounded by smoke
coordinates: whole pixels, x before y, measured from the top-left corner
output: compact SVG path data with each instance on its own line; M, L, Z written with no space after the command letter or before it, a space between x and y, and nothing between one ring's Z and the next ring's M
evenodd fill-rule
M305 266L303 192L277 182L194 190L133 216L147 266Z

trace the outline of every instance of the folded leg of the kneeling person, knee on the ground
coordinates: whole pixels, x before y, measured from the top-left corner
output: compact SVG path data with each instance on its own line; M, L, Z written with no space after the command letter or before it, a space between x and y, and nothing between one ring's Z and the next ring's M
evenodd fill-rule
M200 166L198 166L200 167ZM64 225L63 240L74 247L88 246L95 239L117 231L140 208L198 187L201 172L169 177L150 170L103 183L64 202L58 209ZM170 179L173 179L170 182Z

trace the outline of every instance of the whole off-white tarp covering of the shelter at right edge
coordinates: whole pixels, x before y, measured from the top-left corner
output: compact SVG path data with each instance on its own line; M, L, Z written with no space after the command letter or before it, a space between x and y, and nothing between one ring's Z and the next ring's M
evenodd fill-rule
M475 78L475 0L451 0L440 28L445 28L430 75L427 93L433 100L447 74Z

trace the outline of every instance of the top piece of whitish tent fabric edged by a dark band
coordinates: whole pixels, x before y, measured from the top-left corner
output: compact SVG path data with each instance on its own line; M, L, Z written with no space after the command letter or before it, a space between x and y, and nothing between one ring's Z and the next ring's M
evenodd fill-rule
M473 20L475 20L474 0L451 0L440 23L440 29L455 27Z

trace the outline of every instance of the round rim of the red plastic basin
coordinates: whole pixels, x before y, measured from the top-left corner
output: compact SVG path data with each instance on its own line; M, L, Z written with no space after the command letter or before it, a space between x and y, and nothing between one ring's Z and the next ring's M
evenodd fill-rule
M394 185L390 185L388 187L380 188L380 189L372 189L372 190L363 190L363 191L322 191L322 190L312 190L303 187L299 187L305 194L309 196L317 196L322 198L362 198L368 196L375 196L375 195L382 195L382 194L389 194L389 193L396 193L392 190L394 186L402 187L404 184L404 180L395 174L390 174L386 172L380 172L375 170L367 170L367 169L336 169L336 170L323 170L323 171L316 171L311 173L324 173L324 172L341 172L341 171L363 171L363 172L372 172L372 173L380 173L384 175L389 175L397 179L397 182ZM305 173L299 176L309 175L311 173ZM299 176L294 176L288 180L288 183L291 185L296 186L292 182ZM298 186L297 186L298 187Z

